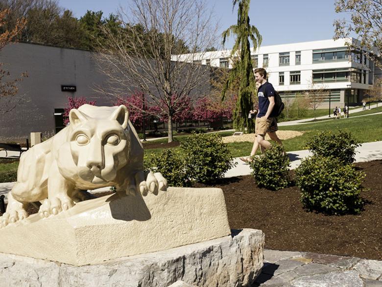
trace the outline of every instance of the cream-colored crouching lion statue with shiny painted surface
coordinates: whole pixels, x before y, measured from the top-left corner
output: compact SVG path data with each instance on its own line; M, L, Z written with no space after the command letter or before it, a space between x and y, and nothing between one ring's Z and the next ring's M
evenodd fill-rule
M26 218L32 202L42 202L43 218L70 209L89 199L87 189L115 185L119 193L143 196L166 190L160 173L144 173L143 147L128 115L124 105L72 109L69 126L22 154L0 227Z

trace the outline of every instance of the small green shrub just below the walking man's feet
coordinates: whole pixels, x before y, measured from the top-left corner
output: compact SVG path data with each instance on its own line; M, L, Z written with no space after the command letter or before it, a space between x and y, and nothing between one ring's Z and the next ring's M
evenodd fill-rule
M274 144L263 155L252 159L249 166L259 187L279 190L288 186L290 163L282 146Z

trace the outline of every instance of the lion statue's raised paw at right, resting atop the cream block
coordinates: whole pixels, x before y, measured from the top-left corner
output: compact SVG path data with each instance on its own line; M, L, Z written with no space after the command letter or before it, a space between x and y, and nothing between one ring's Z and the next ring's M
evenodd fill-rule
M135 182L137 183L137 189L146 196L148 192L158 194L159 191L167 190L167 180L162 176L160 172L153 173L152 171L146 174L138 172L135 175Z

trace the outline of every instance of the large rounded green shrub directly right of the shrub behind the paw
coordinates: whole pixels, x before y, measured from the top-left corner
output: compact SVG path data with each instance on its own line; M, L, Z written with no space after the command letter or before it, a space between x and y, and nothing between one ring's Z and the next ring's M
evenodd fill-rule
M234 167L233 157L220 135L192 133L180 143L187 171L192 181L211 183Z

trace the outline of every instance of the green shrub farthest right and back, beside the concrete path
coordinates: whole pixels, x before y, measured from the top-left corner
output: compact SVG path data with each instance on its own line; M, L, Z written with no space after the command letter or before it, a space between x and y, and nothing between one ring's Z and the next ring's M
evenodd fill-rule
M330 130L319 132L307 142L307 148L313 155L333 157L342 163L352 163L355 160L356 148L360 146L350 132Z

